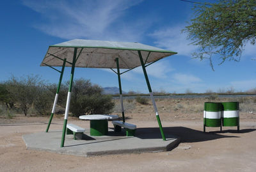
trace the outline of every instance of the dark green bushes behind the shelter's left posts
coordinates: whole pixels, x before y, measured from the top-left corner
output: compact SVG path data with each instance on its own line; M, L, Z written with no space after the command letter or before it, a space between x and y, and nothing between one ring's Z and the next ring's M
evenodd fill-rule
M68 85L69 82L61 85L57 103L59 107L66 107ZM35 114L51 114L56 90L56 84L47 84L38 75L20 78L12 76L8 81L0 83L0 104L8 109L21 109L25 116L32 110L35 110ZM115 104L111 96L102 95L102 92L100 86L93 85L89 80L74 80L70 112L74 116L111 113Z

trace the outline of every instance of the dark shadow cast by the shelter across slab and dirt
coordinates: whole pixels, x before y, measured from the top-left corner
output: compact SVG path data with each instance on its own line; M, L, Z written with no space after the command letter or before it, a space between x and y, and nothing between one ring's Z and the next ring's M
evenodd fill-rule
M164 127L164 134L166 138L172 138L173 135L180 137L182 143L195 143L201 141L209 141L214 139L221 139L226 137L239 136L224 136L216 132L202 132L200 130L189 129L187 127ZM253 129L254 130L254 129ZM252 129L241 130L243 132L252 132ZM123 132L123 131L122 131ZM140 139L161 139L159 128L138 128L136 129L136 137Z

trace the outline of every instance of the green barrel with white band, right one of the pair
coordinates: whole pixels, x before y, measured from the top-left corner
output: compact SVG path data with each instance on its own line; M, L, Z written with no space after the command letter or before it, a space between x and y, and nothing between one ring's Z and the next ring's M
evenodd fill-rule
M222 102L223 127L239 126L239 102Z

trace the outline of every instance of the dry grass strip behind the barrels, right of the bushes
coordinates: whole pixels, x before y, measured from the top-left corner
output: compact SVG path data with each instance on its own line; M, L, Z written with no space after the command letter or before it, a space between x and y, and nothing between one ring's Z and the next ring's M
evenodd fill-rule
M239 102L240 118L256 120L256 97L220 98L156 98L157 109L161 118L173 120L200 120L204 111L204 102ZM120 102L115 100L114 114L120 114ZM124 100L125 116L138 120L154 120L155 112L152 102L142 105L134 99Z

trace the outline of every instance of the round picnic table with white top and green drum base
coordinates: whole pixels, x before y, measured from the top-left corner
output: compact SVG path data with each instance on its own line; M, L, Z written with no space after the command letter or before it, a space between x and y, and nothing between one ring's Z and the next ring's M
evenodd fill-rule
M79 116L81 120L90 120L91 136L108 135L108 120L115 120L117 118L118 116L113 114L88 114Z

